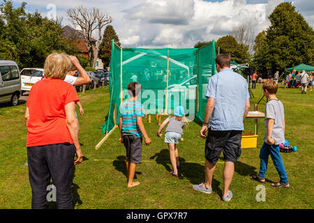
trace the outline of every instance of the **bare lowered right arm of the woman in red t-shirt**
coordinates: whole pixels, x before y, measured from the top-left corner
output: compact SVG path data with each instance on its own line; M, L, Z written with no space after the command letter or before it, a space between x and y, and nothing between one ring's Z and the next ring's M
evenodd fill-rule
M75 102L66 104L64 108L66 110L66 126L68 127L68 131L70 132L70 136L76 149L77 160L74 162L76 165L83 161L83 153L78 139L79 125L77 118L75 117Z

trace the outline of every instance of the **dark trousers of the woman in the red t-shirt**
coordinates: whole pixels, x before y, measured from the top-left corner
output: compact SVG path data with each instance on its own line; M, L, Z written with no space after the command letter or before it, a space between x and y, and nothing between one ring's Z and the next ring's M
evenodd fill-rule
M47 193L51 187L51 179L55 187L57 208L73 209L71 185L74 155L75 146L73 144L52 144L27 148L32 209L48 208Z

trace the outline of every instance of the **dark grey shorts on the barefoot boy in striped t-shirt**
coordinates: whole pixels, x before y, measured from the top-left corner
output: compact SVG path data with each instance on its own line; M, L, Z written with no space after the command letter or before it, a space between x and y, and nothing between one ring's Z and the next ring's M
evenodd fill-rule
M132 163L142 162L142 138L135 137L133 134L123 136L124 146L126 147L126 158Z

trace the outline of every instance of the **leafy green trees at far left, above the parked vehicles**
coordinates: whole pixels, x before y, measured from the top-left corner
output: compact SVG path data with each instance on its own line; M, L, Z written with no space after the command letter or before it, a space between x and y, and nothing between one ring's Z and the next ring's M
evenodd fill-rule
M0 4L0 57L16 61L20 68L42 68L48 54L76 52L63 40L61 26L40 13L26 13L26 3L14 8L12 1Z

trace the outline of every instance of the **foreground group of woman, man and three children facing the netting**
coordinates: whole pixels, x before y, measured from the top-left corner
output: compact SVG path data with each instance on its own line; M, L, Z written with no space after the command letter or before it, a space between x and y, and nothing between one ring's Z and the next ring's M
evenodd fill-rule
M212 180L216 163L223 152L225 167L223 170L223 201L232 199L230 186L234 175L234 163L241 156L241 137L244 120L250 109L250 96L244 77L230 68L230 56L220 54L216 57L218 73L209 79L207 87L207 106L200 137L206 139L205 181L193 185L193 189L206 194L212 192ZM82 77L68 77L70 71L79 70ZM27 125L27 157L29 181L32 191L32 208L48 208L46 199L50 180L57 188L57 208L73 208L73 164L83 160L79 142L79 125L75 115L75 103L79 98L73 84L90 82L84 69L75 56L51 54L45 61L45 79L33 85L27 102L25 121ZM87 76L86 76L87 75ZM65 80L68 80L66 82ZM256 81L256 79L255 79ZM278 83L268 80L263 84L263 93L269 98L265 109L265 139L260 151L260 173L251 176L260 183L265 182L265 173L269 155L274 161L280 181L272 183L274 187L290 187L279 144L285 141L285 118L283 104L276 98ZM228 91L225 91L228 89ZM122 103L119 109L120 141L126 148L127 187L135 187L140 182L133 181L137 164L142 162L142 138L151 144L142 118L143 105L137 101L141 85L128 84L130 99ZM80 105L79 105L80 106ZM156 131L162 137L165 129L165 143L170 151L172 163L171 176L179 176L179 154L177 144L184 134L184 107L176 107ZM76 159L75 159L76 155ZM75 160L73 162L73 160Z

